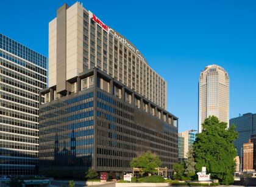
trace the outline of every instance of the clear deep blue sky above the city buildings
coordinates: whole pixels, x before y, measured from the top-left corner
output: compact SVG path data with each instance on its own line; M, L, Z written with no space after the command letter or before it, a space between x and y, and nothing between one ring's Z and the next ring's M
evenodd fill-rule
M1 1L0 32L48 56L48 22L76 1ZM218 64L230 77L230 118L256 113L256 1L83 2L131 41L168 83L179 131L197 129L199 73Z

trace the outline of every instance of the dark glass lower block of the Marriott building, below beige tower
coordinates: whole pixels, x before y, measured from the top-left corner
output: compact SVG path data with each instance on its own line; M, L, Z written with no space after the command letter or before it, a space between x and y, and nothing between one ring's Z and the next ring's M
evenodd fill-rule
M80 89L56 100L54 88L41 90L49 95L40 106L41 168L131 171L133 157L152 151L172 170L177 117L101 70L87 70L74 81Z

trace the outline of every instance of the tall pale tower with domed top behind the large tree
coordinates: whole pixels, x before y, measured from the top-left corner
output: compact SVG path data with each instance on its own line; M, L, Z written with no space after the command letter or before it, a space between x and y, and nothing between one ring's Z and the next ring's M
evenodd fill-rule
M215 115L229 124L229 75L222 67L205 67L199 78L198 132L205 118Z

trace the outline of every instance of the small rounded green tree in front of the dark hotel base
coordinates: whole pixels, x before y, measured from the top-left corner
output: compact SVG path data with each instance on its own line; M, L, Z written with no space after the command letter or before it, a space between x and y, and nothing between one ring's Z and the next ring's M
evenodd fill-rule
M130 162L132 168L140 168L141 174L157 172L155 168L162 165L160 157L152 154L150 151L144 152L144 154L139 157L133 158Z

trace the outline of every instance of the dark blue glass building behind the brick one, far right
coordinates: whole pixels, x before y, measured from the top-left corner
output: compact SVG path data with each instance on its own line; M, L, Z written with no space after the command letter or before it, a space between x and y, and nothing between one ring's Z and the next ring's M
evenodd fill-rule
M247 143L251 135L256 134L256 114L247 113L240 117L232 118L229 120L230 126L235 124L238 138L234 141L237 155L242 157L243 144ZM243 150L242 150L243 151Z

